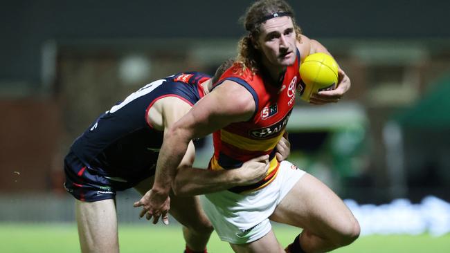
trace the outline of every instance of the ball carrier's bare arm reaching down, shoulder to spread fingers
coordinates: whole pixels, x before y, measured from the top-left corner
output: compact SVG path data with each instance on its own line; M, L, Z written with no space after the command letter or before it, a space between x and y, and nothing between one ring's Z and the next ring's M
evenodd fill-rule
M246 88L225 81L165 131L156 165L152 198L143 203L145 212L156 221L161 214L167 214L172 182L190 140L204 137L233 122L249 120L255 109L253 96Z

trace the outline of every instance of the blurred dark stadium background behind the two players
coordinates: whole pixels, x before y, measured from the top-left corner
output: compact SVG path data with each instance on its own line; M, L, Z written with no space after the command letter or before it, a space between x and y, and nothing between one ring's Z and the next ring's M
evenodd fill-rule
M289 160L348 199L361 215L363 234L438 235L447 244L431 251L445 252L450 248L450 3L289 2L305 35L321 41L352 79L339 104L297 101L288 125ZM62 159L73 139L143 84L179 71L213 73L234 57L244 35L237 20L248 5L239 0L2 3L0 228L6 232L0 229L0 244L11 242L9 231L23 224L59 231L52 225L67 223L78 251L73 198L62 188ZM198 147L199 166L206 166L209 142L206 138ZM120 223L140 229L145 222L132 207L138 195L118 195ZM386 218L381 226L403 218L394 224L410 227L373 227L381 217ZM150 249L156 229L149 231ZM181 233L177 236L183 245ZM292 236L280 241L288 243ZM433 241L426 244L432 247ZM392 252L411 252L392 245ZM370 252L369 247L375 246L359 252ZM16 245L7 252L39 250Z

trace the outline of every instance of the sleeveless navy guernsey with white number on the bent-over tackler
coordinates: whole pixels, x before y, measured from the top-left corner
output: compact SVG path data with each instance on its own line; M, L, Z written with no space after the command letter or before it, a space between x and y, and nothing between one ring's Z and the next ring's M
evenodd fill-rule
M162 97L179 97L193 105L204 96L199 84L210 76L186 72L156 80L119 102L84 131L71 151L98 174L130 175L156 165L163 132L147 123L147 112ZM142 178L141 178L142 179Z

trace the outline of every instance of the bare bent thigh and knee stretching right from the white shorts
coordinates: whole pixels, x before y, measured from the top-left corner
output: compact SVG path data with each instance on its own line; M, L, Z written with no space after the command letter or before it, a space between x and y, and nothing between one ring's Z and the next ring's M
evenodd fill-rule
M357 221L341 198L305 174L271 215L272 221L303 227L323 238L352 233Z

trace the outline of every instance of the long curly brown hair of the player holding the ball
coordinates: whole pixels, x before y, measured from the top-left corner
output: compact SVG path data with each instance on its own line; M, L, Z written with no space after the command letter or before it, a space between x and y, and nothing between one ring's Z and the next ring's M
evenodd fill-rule
M263 17L273 15L273 13L276 12L289 13L292 23L294 24L297 40L300 41L302 30L296 24L294 10L292 10L288 3L283 0L256 1L246 10L244 16L240 19L244 24L245 30L249 32L249 35L240 39L237 46L239 52L237 54L236 62L241 65L242 71L249 68L252 73L258 72L261 55L260 51L253 45L253 40L260 35L261 24L265 21Z

